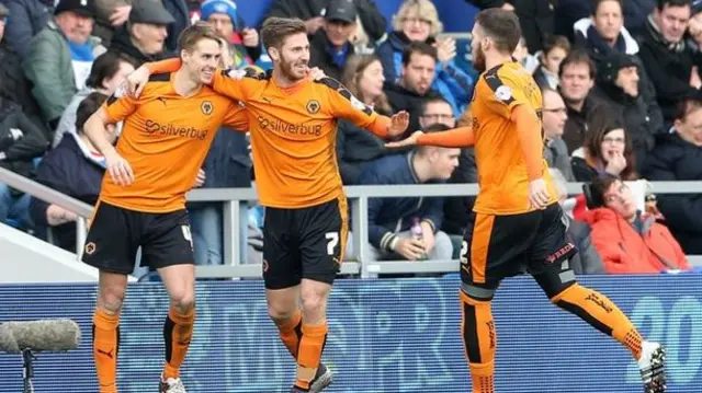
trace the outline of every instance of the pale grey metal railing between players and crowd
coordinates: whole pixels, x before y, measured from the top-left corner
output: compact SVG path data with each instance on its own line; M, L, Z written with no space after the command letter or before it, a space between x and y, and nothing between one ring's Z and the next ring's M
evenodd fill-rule
M86 219L92 213L92 207L43 186L30 178L16 175L0 167L0 183L20 189L48 204L55 204L75 211L80 218L77 222L77 254L80 257L86 238ZM652 182L656 194L700 194L700 182ZM477 184L433 184L433 185L394 185L394 186L348 186L344 188L351 205L351 242L355 257L342 265L341 274L360 275L363 278L377 274L395 273L453 273L458 270L458 261L366 261L367 255L367 204L370 198L394 198L408 195L420 197L465 197L477 195ZM582 193L582 183L569 183L568 194ZM197 277L233 278L261 277L261 265L241 264L239 261L241 235L239 219L240 201L256 201L254 188L200 188L188 193L189 201L219 201L224 211L224 265L197 266ZM702 255L689 255L691 263L702 264Z

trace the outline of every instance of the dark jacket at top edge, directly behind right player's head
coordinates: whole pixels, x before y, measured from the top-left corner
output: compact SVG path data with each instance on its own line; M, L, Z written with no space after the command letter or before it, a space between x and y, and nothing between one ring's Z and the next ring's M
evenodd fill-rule
M555 0L466 0L471 4L484 10L502 7L506 2L514 7L522 27L522 35L526 41L530 54L543 49L543 41L553 34L553 10Z

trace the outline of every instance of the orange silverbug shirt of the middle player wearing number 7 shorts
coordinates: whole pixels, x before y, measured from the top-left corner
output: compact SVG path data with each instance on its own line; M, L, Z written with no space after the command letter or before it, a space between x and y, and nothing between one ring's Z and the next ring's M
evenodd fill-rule
M371 128L378 115L331 78L282 88L271 72L242 72L240 80L217 72L212 86L246 104L261 205L304 208L341 196L337 122Z

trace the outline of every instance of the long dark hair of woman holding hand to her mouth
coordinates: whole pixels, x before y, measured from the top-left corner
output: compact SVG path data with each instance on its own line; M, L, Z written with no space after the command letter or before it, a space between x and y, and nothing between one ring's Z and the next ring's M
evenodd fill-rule
M585 158L588 165L597 167L598 163L604 164L607 159L602 154L602 141L608 134L615 129L624 130L624 159L626 167L620 173L622 180L632 181L637 178L636 162L634 158L634 148L632 146L632 136L624 128L622 119L605 113L601 116L593 116L590 122L588 131L585 135Z

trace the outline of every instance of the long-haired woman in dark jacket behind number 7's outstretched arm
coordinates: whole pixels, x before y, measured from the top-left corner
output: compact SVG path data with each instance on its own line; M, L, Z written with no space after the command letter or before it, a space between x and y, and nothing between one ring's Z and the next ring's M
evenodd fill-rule
M354 55L349 59L341 82L351 94L382 115L393 108L383 92L383 65L375 55ZM346 185L358 184L361 172L385 154L385 141L347 120L339 120L337 160Z

